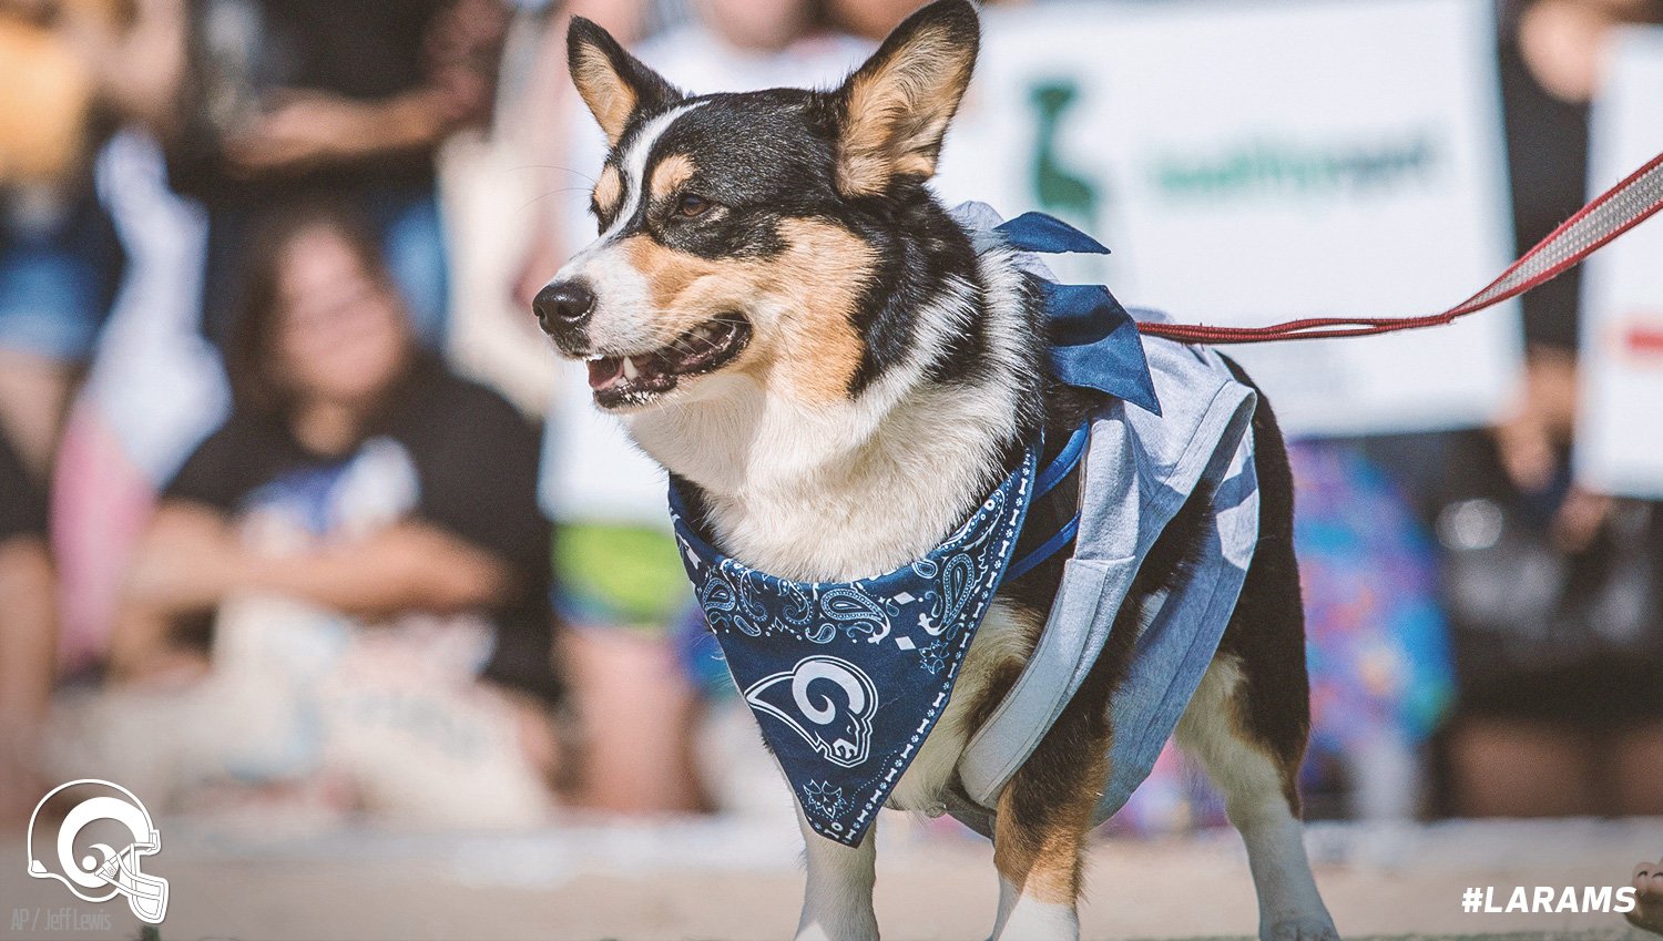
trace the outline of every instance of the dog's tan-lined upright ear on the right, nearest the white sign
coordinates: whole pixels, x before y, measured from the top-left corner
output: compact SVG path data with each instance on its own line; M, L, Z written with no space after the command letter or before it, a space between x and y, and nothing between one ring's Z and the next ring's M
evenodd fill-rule
M881 193L896 176L935 175L980 45L976 8L968 0L938 0L896 27L835 91L845 196Z

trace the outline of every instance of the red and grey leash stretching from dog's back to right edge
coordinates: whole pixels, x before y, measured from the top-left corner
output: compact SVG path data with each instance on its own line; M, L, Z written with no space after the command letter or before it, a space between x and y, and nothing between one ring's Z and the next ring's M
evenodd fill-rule
M1588 203L1553 234L1537 243L1523 258L1513 263L1488 288L1460 304L1424 318L1307 318L1266 328L1219 328L1206 324L1139 323L1137 329L1149 336L1179 342L1271 342L1277 339L1319 339L1325 336L1370 336L1447 324L1457 318L1492 308L1545 284L1605 243L1638 226L1663 209L1663 153L1636 170L1628 180L1606 190Z

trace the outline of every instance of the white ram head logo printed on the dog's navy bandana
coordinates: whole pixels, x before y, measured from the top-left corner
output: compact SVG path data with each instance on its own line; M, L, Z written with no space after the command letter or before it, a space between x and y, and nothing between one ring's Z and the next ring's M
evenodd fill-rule
M833 765L853 768L871 750L878 690L846 660L805 657L745 690L757 712L778 718Z

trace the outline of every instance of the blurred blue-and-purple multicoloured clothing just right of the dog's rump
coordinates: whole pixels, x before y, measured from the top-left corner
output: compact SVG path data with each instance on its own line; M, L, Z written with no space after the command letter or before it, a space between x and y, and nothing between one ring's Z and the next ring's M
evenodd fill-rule
M1294 441L1289 461L1310 668L1304 778L1312 796L1342 795L1317 813L1372 825L1380 841L1365 851L1390 861L1394 828L1424 810L1422 751L1453 700L1435 545L1375 442Z

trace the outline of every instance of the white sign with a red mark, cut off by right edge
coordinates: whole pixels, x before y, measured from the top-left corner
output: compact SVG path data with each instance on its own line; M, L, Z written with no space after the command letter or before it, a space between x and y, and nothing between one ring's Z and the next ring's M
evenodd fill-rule
M1625 30L1593 108L1590 191L1663 153L1663 28ZM1582 281L1582 406L1575 469L1585 487L1663 497L1663 221L1588 261Z

